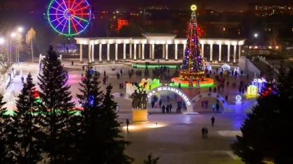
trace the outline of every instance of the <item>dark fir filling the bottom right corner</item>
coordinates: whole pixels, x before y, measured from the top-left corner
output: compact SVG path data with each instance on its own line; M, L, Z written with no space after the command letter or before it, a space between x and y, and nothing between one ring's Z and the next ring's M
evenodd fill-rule
M241 127L242 136L232 144L234 154L245 163L293 163L292 116L293 69L280 69L278 82L269 82L266 94L257 98Z

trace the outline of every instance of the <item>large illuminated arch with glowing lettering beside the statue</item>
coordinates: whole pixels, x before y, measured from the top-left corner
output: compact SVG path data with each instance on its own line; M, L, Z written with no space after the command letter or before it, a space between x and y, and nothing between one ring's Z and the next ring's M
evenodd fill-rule
M193 103L191 103L190 99L186 94L184 94L180 89L176 87L171 86L162 86L162 87L156 87L154 89L151 89L149 93L147 94L147 98L150 100L152 96L154 96L156 93L160 91L172 91L175 94L178 94L182 100L186 103L187 111L183 112L183 114L199 114L198 112L193 112Z

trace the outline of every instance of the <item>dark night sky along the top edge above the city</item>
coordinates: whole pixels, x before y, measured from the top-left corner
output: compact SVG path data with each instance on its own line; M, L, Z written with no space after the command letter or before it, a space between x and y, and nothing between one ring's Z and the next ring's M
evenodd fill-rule
M191 3L199 8L203 2L206 8L218 11L246 10L248 3L273 3L276 0L88 0L97 10L114 9L117 6L170 6L170 8L189 8ZM290 0L278 0L278 3L293 3ZM50 0L0 0L0 6L5 8L17 8L20 10L40 10L50 3ZM112 4L111 4L112 3ZM111 4L111 5L109 5Z

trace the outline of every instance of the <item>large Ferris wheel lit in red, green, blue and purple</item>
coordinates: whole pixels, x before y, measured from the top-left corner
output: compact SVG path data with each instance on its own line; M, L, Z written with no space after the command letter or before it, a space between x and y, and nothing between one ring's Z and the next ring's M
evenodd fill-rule
M93 15L87 0L52 0L45 17L57 33L75 36L89 27Z

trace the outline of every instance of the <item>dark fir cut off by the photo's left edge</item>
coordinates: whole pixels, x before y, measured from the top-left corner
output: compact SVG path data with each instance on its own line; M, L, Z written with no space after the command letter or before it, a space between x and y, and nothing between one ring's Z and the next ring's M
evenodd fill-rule
M15 163L15 157L18 149L15 145L17 137L15 128L13 128L13 120L8 114L6 103L3 102L3 96L0 94L0 164Z

